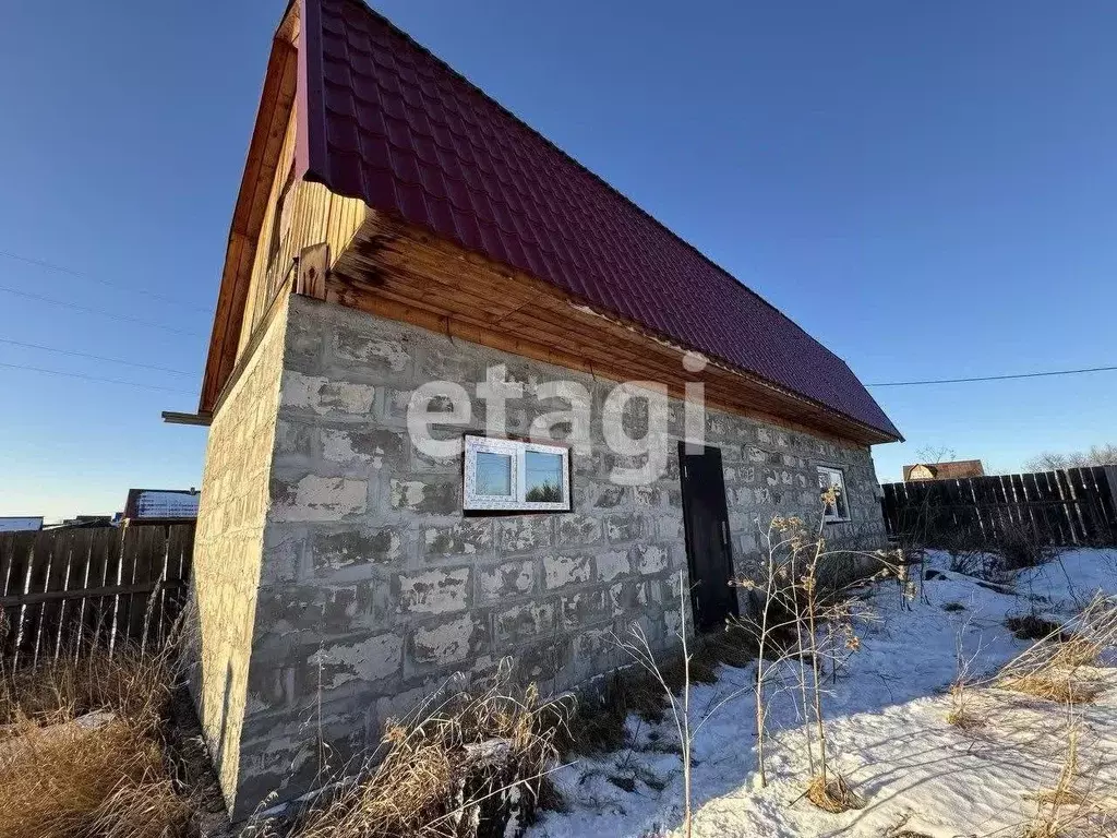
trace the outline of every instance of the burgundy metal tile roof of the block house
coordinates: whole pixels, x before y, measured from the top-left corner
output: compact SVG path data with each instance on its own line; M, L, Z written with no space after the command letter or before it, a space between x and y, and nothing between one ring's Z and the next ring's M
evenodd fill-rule
M846 363L360 0L302 0L299 168L889 436Z

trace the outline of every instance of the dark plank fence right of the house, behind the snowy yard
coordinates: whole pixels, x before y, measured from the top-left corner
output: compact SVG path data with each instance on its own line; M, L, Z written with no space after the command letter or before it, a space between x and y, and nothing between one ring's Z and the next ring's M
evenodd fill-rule
M1047 544L1117 544L1117 466L913 480L882 486L892 539L996 544L1020 534Z

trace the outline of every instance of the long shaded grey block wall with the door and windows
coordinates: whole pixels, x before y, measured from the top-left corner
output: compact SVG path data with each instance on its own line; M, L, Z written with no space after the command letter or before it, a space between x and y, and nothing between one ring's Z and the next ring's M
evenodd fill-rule
M572 456L572 514L464 517L460 458L432 459L410 445L405 409L417 384L449 380L472 394L498 363L525 389L508 402L510 434L564 407L536 400L542 381L579 381L598 408L612 388L292 298L238 811L313 782L318 730L340 764L455 672L508 656L518 678L562 688L627 663L610 636L632 622L659 649L677 642L686 568L677 446L656 484L613 485L615 458L595 410L594 453ZM469 427L481 430L485 403L472 407ZM670 417L677 439L680 403ZM707 442L723 451L738 564L757 550L757 517L817 515L817 464L844 469L855 524L882 532L867 449L725 413L709 413L707 427Z

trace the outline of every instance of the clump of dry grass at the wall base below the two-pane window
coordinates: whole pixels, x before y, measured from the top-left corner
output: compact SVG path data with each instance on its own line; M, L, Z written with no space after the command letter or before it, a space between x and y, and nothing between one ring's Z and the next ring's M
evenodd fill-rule
M544 780L569 714L534 686L512 688L502 667L483 687L390 723L380 761L314 806L292 838L435 838L467 823L486 834L509 812L527 823L541 803L560 804Z

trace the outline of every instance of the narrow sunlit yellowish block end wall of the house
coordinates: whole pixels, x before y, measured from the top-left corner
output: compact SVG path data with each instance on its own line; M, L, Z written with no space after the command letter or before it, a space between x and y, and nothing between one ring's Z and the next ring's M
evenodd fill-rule
M198 625L191 632L197 644L191 691L227 790L240 778L241 722L283 375L286 315L276 315L210 426L194 542L193 608L188 613Z

